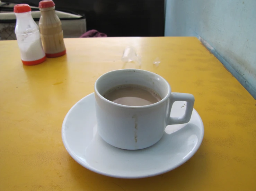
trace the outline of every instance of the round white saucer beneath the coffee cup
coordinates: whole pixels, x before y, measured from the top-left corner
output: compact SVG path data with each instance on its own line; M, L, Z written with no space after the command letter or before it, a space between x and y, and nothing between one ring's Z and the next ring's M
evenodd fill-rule
M174 103L172 117L185 112L184 103ZM63 143L74 160L91 171L117 178L151 177L177 168L195 154L203 134L203 122L193 110L188 123L167 126L162 139L151 147L118 149L97 133L94 93L78 101L62 125Z

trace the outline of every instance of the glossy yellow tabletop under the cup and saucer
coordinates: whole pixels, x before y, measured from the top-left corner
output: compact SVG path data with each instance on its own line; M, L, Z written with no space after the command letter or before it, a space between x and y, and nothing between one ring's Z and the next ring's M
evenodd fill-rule
M67 55L23 66L16 41L0 41L0 190L256 190L256 101L193 37L65 39ZM141 67L121 61L125 47ZM158 67L153 60L160 58ZM173 92L195 96L205 134L188 162L156 177L116 179L91 172L65 150L68 110L103 73L141 68Z

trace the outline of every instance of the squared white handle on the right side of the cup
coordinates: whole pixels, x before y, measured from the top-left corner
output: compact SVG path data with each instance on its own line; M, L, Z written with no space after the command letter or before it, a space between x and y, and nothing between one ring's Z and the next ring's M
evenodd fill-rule
M170 117L171 108L173 107L173 103L175 101L186 101L187 102L185 114L181 117ZM195 102L195 98L192 94L171 93L170 103L169 103L169 108L168 108L168 115L167 115L167 125L187 123L191 118L192 111L194 108L194 102Z

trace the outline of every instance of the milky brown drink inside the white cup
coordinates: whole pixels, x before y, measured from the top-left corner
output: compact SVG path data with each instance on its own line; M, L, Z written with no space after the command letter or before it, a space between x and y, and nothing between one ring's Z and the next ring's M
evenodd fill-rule
M104 94L104 97L109 101L129 106L150 105L161 100L154 90L134 84L112 88Z

